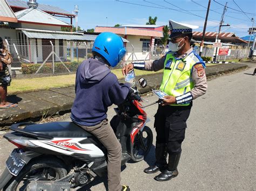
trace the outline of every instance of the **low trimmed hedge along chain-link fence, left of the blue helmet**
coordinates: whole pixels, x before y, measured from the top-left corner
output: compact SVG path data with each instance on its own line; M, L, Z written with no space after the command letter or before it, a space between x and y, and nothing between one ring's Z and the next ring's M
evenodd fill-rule
M82 61L64 62L66 67L69 68L71 72L77 70L78 66ZM37 69L42 65L42 63L22 63L22 73L23 74L35 74ZM55 62L55 73L65 73L68 70L63 66L61 62ZM50 74L52 73L52 63L45 63L45 65L39 70L39 74Z

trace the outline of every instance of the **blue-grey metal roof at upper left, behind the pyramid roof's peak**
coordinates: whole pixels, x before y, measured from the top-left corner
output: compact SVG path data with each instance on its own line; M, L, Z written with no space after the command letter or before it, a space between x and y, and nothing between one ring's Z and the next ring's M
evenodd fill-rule
M28 9L29 6L28 4L26 4L26 1L21 1L21 0L7 0L8 4L10 6L16 6L19 8L24 8L24 9ZM57 6L52 6L52 5L45 5L45 4L40 4L38 3L38 9L42 10L42 11L46 11L46 12L52 12L52 13L60 13L60 15L70 15L70 16L75 16L72 13L60 9Z

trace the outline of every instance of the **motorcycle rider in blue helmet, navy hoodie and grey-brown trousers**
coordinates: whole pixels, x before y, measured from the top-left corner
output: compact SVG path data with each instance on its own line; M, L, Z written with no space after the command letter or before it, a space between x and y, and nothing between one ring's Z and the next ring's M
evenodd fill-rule
M130 190L120 185L122 147L107 120L107 107L125 101L130 83L120 85L110 67L126 53L121 37L111 32L98 35L92 47L93 58L81 63L76 73L76 98L71 119L95 135L107 149L107 176L110 191Z

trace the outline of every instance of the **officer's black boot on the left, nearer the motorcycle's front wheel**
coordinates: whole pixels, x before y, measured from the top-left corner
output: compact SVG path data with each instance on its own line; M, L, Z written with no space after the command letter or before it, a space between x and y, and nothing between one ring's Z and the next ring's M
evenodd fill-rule
M153 166L144 169L145 173L152 174L166 168L167 162L167 147L166 144L156 144L156 162Z

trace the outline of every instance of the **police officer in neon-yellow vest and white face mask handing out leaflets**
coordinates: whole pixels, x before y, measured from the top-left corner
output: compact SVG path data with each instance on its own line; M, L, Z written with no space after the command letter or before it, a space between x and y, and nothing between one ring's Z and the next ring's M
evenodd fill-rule
M192 100L204 95L207 89L205 63L190 46L192 29L198 26L169 21L171 30L169 49L163 58L154 61L132 62L123 68L123 74L131 69L164 69L160 90L169 96L159 105L155 115L156 162L144 169L145 173L161 173L154 177L167 181L178 175L181 143L185 138L186 121L190 115ZM169 160L167 159L169 154Z

